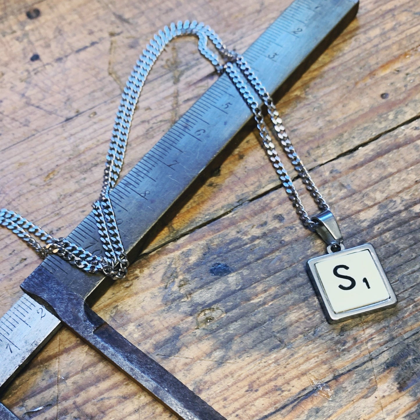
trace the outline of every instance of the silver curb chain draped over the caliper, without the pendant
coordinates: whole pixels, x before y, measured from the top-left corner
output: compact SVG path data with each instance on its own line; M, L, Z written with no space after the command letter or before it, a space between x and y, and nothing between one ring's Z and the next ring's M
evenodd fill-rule
M63 260L70 262L70 264L73 264L77 268L88 273L102 272L106 276L112 278L123 278L126 276L129 261L118 231L118 225L115 220L115 214L110 199L110 192L118 181L123 166L131 121L147 75L159 55L165 49L165 46L168 45L172 39L189 34L195 35L198 38L199 52L215 66L219 74L223 72L228 74L236 86L236 89L238 89L239 93L244 98L244 101L254 114L265 151L278 174L282 186L286 189L286 193L288 194L292 205L295 207L300 220L307 228L311 230L315 229L316 223L310 219L304 209L299 194L284 168L280 157L278 157L261 109L248 89L247 82L244 81L242 77L249 82L253 90L266 105L268 115L270 116L273 125L273 132L276 134L283 151L291 161L295 171L297 171L315 203L320 210L328 210L328 205L291 144L273 100L244 57L236 54L235 51L228 50L226 45L223 44L210 26L205 26L203 23L197 23L197 21L179 21L177 24L171 23L170 26L165 26L163 30L160 30L155 34L153 39L150 40L150 43L143 50L142 55L140 55L139 59L136 61L136 65L129 76L126 87L124 87L111 134L109 150L106 156L100 198L93 203L93 215L97 223L105 255L100 257L92 255L90 252L78 247L65 238L54 238L38 226L34 225L34 223L29 222L29 220L26 220L21 215L7 209L0 210L1 226L10 229L14 234L25 241L29 247L32 247L42 258L47 257L47 255L58 255L63 258ZM207 46L208 39L210 39L215 49L218 50L226 63L220 61L218 55L209 49ZM237 69L239 69L239 72ZM46 245L42 247L37 242L37 239L43 241Z

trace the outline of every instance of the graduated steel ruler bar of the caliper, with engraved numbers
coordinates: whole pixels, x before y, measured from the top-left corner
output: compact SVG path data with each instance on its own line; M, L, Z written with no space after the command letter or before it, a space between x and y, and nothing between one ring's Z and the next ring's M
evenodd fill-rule
M244 57L270 93L289 89L357 13L358 0L295 0ZM228 76L221 76L118 183L111 199L129 259L142 239L188 189L252 114ZM68 239L102 252L89 214ZM108 281L49 256L31 276L47 270L87 299ZM28 279L31 278L29 276ZM0 319L0 387L4 387L60 327L60 320L28 295Z

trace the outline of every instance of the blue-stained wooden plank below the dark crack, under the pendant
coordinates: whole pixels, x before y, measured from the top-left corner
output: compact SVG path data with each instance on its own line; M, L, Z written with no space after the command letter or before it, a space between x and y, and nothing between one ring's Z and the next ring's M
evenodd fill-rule
M228 418L404 418L420 402L419 150L411 123L314 171L347 245L375 245L395 308L328 325L304 271L323 244L276 190L145 256L95 310ZM45 419L169 418L139 396L61 331L5 402L53 401Z

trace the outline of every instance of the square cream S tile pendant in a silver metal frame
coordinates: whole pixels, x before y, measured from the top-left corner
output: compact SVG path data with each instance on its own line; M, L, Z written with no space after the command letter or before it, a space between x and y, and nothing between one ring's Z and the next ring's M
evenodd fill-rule
M329 323L395 306L397 302L371 244L315 257L306 264Z

